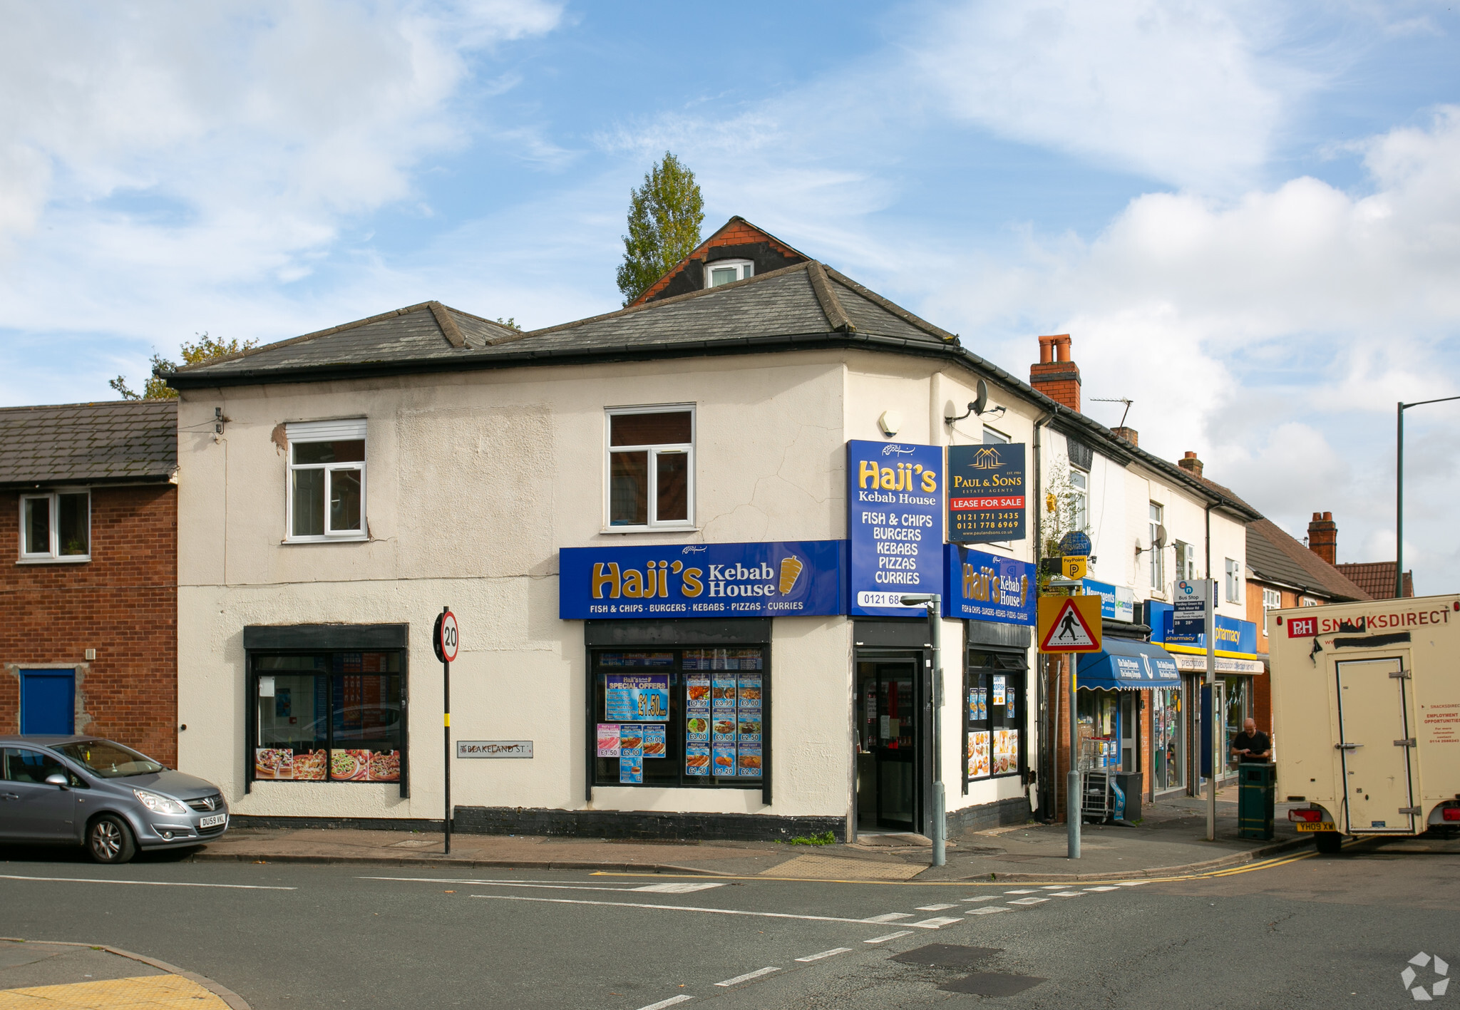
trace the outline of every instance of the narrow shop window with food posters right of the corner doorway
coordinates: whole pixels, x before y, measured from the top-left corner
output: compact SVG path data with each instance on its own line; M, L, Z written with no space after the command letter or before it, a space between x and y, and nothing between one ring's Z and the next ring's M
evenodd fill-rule
M964 784L1023 771L1023 683L1019 655L969 649L964 671Z

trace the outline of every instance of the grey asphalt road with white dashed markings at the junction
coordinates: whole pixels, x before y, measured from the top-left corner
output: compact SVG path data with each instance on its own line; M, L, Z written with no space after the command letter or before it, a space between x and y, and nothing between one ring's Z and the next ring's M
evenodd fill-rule
M256 1010L1313 1010L1413 1006L1419 952L1460 974L1456 854L1048 889L9 855L0 934L150 955Z

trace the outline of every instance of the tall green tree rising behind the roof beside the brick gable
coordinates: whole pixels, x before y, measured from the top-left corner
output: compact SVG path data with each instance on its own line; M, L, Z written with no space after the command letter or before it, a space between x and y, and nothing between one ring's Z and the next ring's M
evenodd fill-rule
M623 236L618 273L625 305L694 252L704 220L705 201L695 174L666 150L644 177L644 185L629 190L629 234Z

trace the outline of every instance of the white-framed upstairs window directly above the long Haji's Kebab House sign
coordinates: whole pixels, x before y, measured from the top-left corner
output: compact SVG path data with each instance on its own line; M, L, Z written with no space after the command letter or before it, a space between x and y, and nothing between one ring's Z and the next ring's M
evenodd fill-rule
M606 422L609 528L692 528L695 409L610 409Z

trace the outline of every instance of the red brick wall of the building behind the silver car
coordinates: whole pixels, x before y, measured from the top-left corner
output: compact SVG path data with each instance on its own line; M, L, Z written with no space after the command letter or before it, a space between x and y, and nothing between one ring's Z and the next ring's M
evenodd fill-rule
M18 565L19 493L0 492L0 734L28 664L74 664L77 733L177 765L177 487L92 489L92 560ZM86 660L86 649L96 649Z

